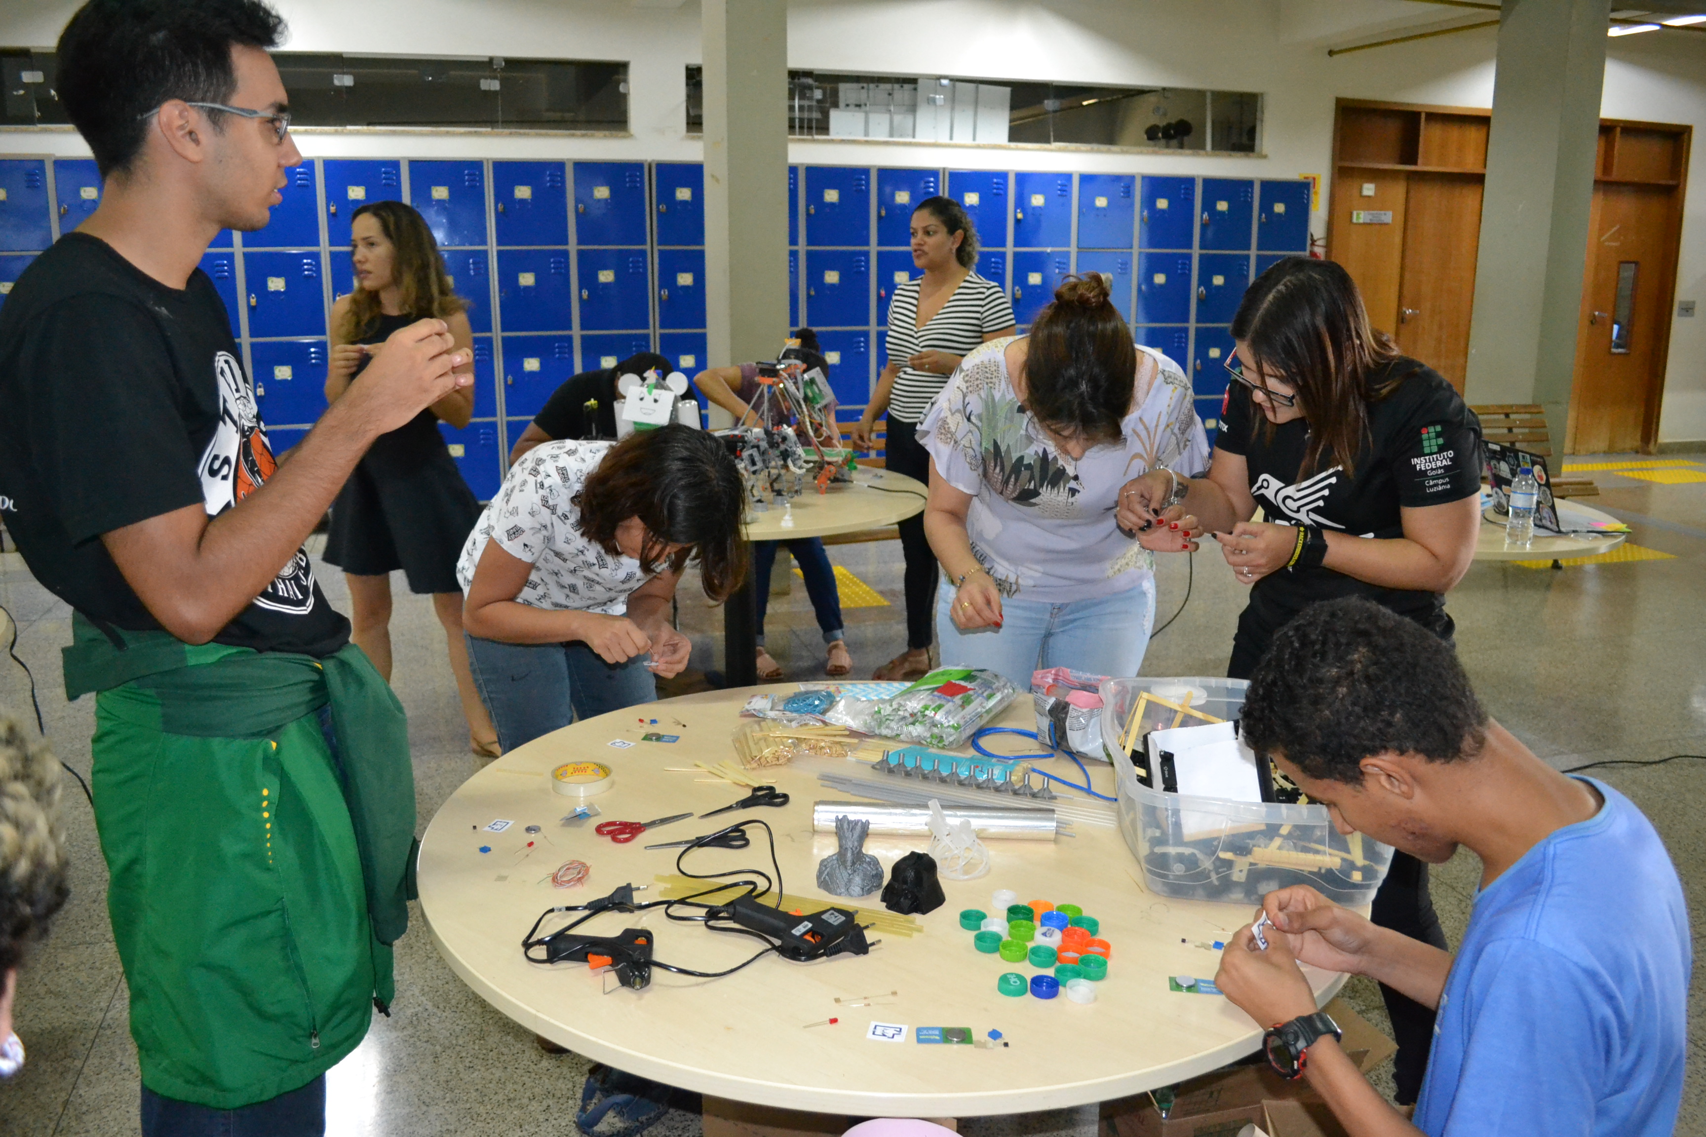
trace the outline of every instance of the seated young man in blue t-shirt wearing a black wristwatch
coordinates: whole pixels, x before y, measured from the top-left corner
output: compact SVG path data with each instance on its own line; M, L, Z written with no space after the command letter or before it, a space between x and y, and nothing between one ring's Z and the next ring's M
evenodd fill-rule
M1341 832L1440 864L1481 857L1457 956L1375 927L1307 886L1227 944L1216 984L1307 1077L1351 1137L1667 1137L1687 1053L1692 967L1682 885L1621 793L1568 777L1488 718L1452 649L1367 600L1281 631L1240 730ZM1414 1123L1339 1050L1297 963L1351 972L1436 1007Z

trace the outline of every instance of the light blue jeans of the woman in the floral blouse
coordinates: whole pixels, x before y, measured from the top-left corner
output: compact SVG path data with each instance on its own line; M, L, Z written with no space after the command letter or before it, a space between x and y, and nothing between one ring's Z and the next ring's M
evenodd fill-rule
M1030 690L1030 673L1046 667L1131 678L1143 665L1155 624L1153 576L1145 576L1136 588L1097 600L1047 603L1003 597L1001 627L971 632L955 627L949 615L954 593L943 585L937 597L942 667L1000 672L1022 692Z

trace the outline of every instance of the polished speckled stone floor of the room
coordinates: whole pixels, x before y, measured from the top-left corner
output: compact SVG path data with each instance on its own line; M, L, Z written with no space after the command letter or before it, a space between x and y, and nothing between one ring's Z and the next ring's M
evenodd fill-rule
M1689 462L1691 455L1677 455ZM1585 460L1585 459L1583 459ZM1692 459L1706 474L1706 455ZM1651 760L1706 753L1706 481L1653 482L1643 467L1593 470L1604 494L1592 505L1634 527L1633 544L1663 559L1530 569L1477 564L1450 597L1459 651L1489 711L1559 767L1605 759ZM1689 469L1689 467L1680 467ZM317 544L316 544L317 547ZM889 607L848 609L848 643L858 675L904 646L901 557L896 542L839 545L833 559L868 583ZM338 569L317 566L333 603L346 593ZM1223 673L1232 629L1242 607L1239 585L1213 549L1194 566L1174 557L1158 569L1157 626L1186 600L1177 619L1150 646L1146 675ZM397 578L401 590L401 578ZM58 648L68 641L68 614L34 583L15 552L0 552L0 605L19 624L19 656L36 673L41 711L53 745L87 774L92 701L67 706ZM694 588L682 590L681 622L694 638L694 672L681 690L703 684L699 672L720 667L722 612ZM466 747L442 632L423 597L399 595L392 624L396 690L409 713L420 817L473 774L479 762ZM9 638L0 617L0 644ZM804 588L775 597L769 646L788 678L822 675L822 648ZM0 707L29 716L22 672L0 656ZM1706 764L1614 765L1597 776L1648 811L1675 859L1699 926L1706 903ZM125 982L104 909L106 869L94 823L80 793L70 793L73 895L53 938L19 980L17 1031L29 1065L0 1082L0 1134L48 1137L136 1134L136 1059L128 1035ZM1459 854L1436 869L1433 897L1455 941L1469 915L1477 863ZM1605 919L1617 919L1617 897L1605 897ZM1697 932L1696 932L1697 934ZM339 1137L409 1134L531 1137L573 1132L585 1062L548 1057L527 1031L478 999L437 958L416 931L397 949L392 1018L377 1019L367 1042L329 1077L329 1134ZM1365 1014L1380 1021L1372 985L1348 989ZM1692 1050L1706 1045L1701 1006L1691 1006ZM1384 1081L1389 1088L1389 1076ZM1005 1134L1083 1134L1095 1110L983 1118L962 1125L979 1137ZM660 1137L699 1132L698 1117L672 1113ZM1706 1091L1697 1071L1684 1096L1680 1134L1706 1132Z

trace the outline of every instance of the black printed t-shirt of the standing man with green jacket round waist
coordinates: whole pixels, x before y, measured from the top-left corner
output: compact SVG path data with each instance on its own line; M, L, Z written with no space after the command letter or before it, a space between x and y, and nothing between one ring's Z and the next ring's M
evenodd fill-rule
M159 622L101 534L200 505L218 517L271 476L225 305L201 269L167 288L68 234L0 307L0 518L31 573L78 612ZM217 643L326 656L350 622L297 551Z

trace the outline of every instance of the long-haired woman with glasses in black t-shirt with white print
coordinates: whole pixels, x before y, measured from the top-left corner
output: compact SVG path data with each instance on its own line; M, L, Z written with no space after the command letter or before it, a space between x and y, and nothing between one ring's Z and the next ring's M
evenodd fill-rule
M1331 261L1286 257L1232 322L1237 353L1208 477L1174 493L1165 470L1126 488L1119 522L1194 513L1250 602L1227 673L1249 678L1286 622L1317 600L1367 597L1445 641L1445 593L1481 527L1481 423L1433 368L1368 326ZM1261 506L1262 520L1250 520ZM1445 948L1428 868L1402 852L1375 895L1382 927ZM1382 987L1397 1035L1397 1099L1421 1089L1433 1011Z

